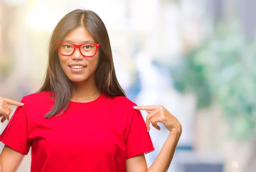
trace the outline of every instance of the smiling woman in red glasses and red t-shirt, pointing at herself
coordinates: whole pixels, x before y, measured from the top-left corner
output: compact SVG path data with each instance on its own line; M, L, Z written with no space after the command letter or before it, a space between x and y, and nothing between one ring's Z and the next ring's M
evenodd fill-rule
M23 104L22 104L23 103ZM93 11L77 9L55 27L42 88L21 103L0 98L0 135L5 146L0 172L14 172L32 148L31 172L165 172L181 134L163 106L137 106L125 97L113 66L104 23ZM140 110L148 112L145 121ZM170 134L148 168L154 150L149 124Z

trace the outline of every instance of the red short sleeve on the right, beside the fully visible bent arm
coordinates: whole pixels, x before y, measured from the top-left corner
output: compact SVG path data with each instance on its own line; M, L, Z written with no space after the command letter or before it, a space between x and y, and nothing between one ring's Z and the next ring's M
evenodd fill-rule
M125 140L126 159L154 151L145 120L139 110L135 110L128 123L128 134ZM129 121L129 120L128 120Z

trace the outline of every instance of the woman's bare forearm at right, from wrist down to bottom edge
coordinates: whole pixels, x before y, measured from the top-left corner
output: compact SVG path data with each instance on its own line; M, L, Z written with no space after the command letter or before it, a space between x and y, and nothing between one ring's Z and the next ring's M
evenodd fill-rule
M170 132L156 160L148 168L147 172L166 172L172 162L177 143L181 135L181 126Z

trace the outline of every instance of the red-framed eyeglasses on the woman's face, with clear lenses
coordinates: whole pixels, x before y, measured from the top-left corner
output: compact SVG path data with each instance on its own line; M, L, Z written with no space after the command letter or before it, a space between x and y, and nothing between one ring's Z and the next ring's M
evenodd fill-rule
M85 57L93 57L98 48L99 48L99 43L84 43L80 45L76 45L73 43L67 43L67 42L59 42L58 43L58 52L61 55L64 56L70 56L74 54L76 48L79 49L79 52L85 56Z

